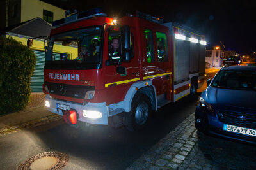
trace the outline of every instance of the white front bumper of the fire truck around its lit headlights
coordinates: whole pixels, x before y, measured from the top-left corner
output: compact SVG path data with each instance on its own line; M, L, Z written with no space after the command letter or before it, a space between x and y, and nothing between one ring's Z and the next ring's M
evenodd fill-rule
M75 104L75 103L69 103L67 101L58 101L56 99L51 99L49 96L45 97L46 101L49 101L50 107L47 107L48 111L51 111L52 113L56 113L58 115L63 115L63 111L57 108L57 103L65 104L70 106L70 109L74 109L77 111L77 114L79 115L78 119L81 122L86 122L89 124L99 124L99 125L108 125L108 107L106 106L106 103L87 103L86 105L82 104ZM83 116L83 110L90 110L90 111L99 111L102 113L101 118L88 118Z

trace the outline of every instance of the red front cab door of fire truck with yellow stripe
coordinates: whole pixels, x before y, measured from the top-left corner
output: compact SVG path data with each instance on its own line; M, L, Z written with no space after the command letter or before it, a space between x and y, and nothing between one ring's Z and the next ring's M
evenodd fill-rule
M131 87L132 83L140 80L140 66L139 66L139 55L138 55L138 42L134 41L134 29L131 27L131 49L132 56L131 62L121 63L122 67L125 67L125 74L118 74L116 68L118 64L105 66L104 67L104 82L106 95L108 97L107 104L118 103L124 100L125 94ZM106 32L105 39L105 50L108 50L108 54L105 52L104 62L109 59L109 52L112 48L113 38L118 38L118 31ZM120 39L119 39L120 42Z

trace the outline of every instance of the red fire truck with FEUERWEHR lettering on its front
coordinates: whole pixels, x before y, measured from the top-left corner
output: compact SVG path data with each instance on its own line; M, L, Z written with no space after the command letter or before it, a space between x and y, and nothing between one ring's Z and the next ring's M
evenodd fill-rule
M52 26L45 106L68 124L140 129L152 110L195 95L204 81L204 36L162 18L137 12L116 22L95 9Z

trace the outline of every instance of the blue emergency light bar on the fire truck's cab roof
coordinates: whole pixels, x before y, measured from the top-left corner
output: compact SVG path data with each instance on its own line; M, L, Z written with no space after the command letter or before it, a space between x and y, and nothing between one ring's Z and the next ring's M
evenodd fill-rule
M56 20L52 22L52 27L59 27L61 25L70 24L72 22L77 22L79 20L97 18L97 17L106 17L106 13L103 13L102 8L94 8L88 11L82 11L81 13L76 13L66 18L62 18L60 20Z

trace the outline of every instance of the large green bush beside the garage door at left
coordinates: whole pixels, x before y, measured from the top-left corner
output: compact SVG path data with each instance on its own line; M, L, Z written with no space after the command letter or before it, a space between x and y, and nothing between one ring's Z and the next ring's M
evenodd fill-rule
M36 56L13 38L0 37L0 115L26 108Z

